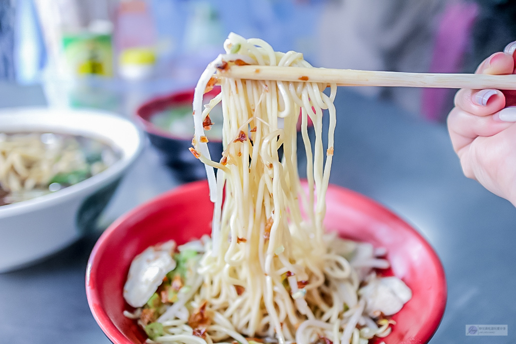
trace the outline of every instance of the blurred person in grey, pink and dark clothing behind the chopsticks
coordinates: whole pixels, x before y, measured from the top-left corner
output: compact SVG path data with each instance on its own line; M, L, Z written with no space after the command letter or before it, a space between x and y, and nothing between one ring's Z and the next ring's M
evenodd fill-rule
M332 0L319 20L319 64L402 72L473 73L516 36L514 0ZM359 88L444 122L453 90Z

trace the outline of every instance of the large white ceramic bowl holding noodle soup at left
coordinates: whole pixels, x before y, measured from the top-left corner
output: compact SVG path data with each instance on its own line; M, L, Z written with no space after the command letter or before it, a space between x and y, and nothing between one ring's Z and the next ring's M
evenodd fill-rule
M61 133L98 138L121 158L83 182L28 201L0 206L0 272L62 249L93 227L142 148L130 121L93 110L12 108L0 111L0 133Z

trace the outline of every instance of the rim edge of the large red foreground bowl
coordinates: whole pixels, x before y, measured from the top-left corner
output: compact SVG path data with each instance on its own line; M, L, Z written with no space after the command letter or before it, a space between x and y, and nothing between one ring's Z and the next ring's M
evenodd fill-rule
M99 324L102 331L105 333L105 335L114 343L117 344L126 344L127 338L122 334L120 330L115 326L115 324L109 319L108 315L106 314L105 310L102 307L95 307L94 304L100 304L100 294L99 290L96 288L95 281L96 278L92 278L92 276L95 275L96 269L98 268L99 261L96 259L97 255L101 255L102 252L104 252L107 249L107 246L105 245L105 242L108 241L108 238L117 231L118 226L127 221L128 219L131 219L135 216L141 215L140 213L145 213L146 209L150 207L150 205L154 205L157 203L161 203L173 194L175 196L181 196L181 194L186 194L190 192L190 189L195 189L200 184L205 184L206 181L198 181L198 182L191 182L184 185L179 186L178 188L169 190L167 192L164 192L156 198L143 203L136 208L134 208L131 211L128 211L125 215L119 217L115 222L113 222L107 229L104 231L104 233L100 236L99 240L95 243L93 250L91 251L91 255L88 259L88 265L86 268L86 298L88 300L88 305L90 307L91 313L93 315L93 318L95 321ZM399 216L394 214L391 210L383 206L382 204L368 198L367 196L352 191L350 189L330 184L328 188L337 188L341 189L342 191L345 191L354 197L358 198L359 200L369 203L370 205L373 205L375 207L378 207L381 209L381 211L386 212L390 214L390 216L395 219L396 221L400 221L402 223L408 224L405 220L401 219ZM441 263L441 260L439 259L437 253L433 250L431 245L428 243L428 241L419 233L417 232L412 225L408 224L408 230L413 232L414 236L417 237L426 250L430 253L430 259L432 261L433 266L436 268L438 273L438 285L441 285L441 290L439 290L439 293L442 294L442 298L440 302L436 305L436 309L434 314L436 314L436 317L434 317L433 322L429 324L428 327L426 327L426 330L423 335L426 338L423 338L424 342L428 342L434 333L436 333L439 324L441 323L441 320L444 315L444 310L446 308L446 301L447 301L447 284L446 284L446 275L444 272L443 265Z

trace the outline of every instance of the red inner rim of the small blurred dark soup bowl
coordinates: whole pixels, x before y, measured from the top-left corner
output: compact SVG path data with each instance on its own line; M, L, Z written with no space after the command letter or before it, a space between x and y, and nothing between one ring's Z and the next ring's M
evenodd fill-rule
M186 89L182 91L173 92L168 95L161 95L154 97L148 102L143 103L135 112L135 118L143 125L145 131L160 137L173 140L191 140L191 137L174 135L167 130L164 130L150 121L151 117L157 111L162 111L167 107L176 105L183 105L191 103L193 100L193 89ZM206 93L208 96L216 96L220 92L220 87L216 86L212 91ZM221 139L210 139L210 142L222 142Z

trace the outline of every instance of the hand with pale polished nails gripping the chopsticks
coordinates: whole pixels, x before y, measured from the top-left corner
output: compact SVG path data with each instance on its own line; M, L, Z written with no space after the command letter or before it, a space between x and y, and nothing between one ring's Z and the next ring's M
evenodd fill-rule
M478 74L516 74L516 42L478 67ZM462 171L516 206L516 91L461 89L448 115Z

